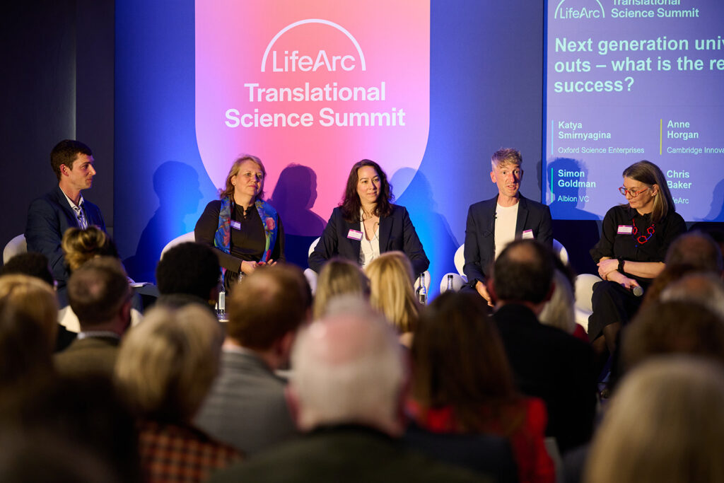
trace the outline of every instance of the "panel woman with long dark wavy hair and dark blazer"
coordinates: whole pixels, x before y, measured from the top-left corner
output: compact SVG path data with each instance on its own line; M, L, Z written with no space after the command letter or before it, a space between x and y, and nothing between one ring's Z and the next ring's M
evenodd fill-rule
M309 256L309 267L319 273L325 261L341 256L366 266L386 251L402 251L415 274L430 264L404 206L395 197L379 164L369 159L350 170L345 198L332 211L321 239Z

